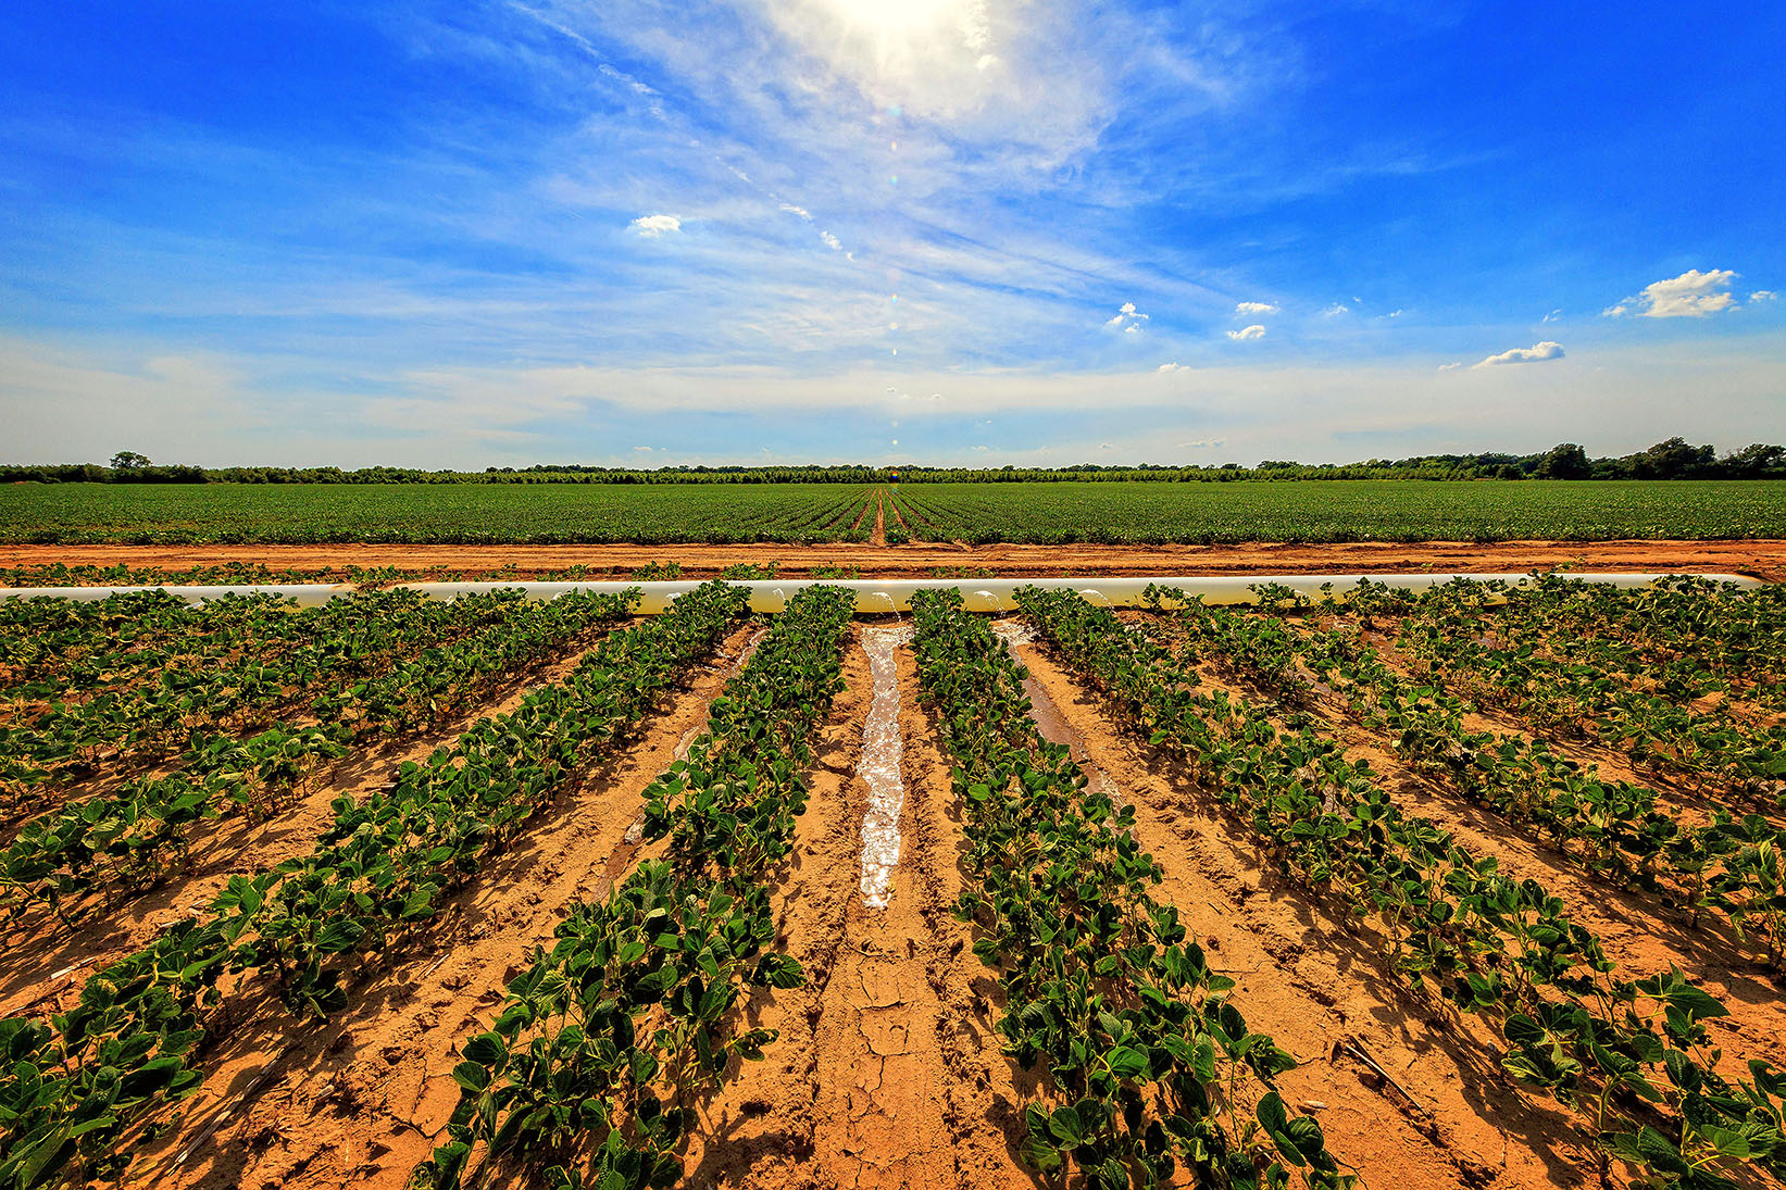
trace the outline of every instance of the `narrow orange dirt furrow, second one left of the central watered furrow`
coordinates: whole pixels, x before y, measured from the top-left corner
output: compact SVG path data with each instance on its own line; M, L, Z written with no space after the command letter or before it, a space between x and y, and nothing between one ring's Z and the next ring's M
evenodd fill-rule
M157 933L182 917L204 915L211 901L229 884L230 876L264 872L314 847L336 818L338 797L364 799L389 786L404 761L421 763L436 749L452 747L479 718L513 711L534 690L561 681L575 670L597 643L589 641L570 656L534 666L505 683L482 704L430 729L425 736L375 742L355 749L332 767L318 788L264 822L250 822L246 815L232 813L227 818L195 824L184 874L171 876L141 897L95 909L93 917L80 920L75 929L64 927L48 911L30 911L13 924L13 929L21 933L14 934L5 965L0 968L0 1013L11 1015L32 1004L46 1011L46 992L55 997L77 995L86 970L105 967L148 945Z

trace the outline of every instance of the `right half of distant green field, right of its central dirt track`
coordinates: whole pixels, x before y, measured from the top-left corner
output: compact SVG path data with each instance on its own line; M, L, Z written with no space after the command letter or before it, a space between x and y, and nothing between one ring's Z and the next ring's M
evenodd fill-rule
M1779 538L1786 484L1298 481L907 484L911 536L1109 543ZM893 525L893 515L888 513Z

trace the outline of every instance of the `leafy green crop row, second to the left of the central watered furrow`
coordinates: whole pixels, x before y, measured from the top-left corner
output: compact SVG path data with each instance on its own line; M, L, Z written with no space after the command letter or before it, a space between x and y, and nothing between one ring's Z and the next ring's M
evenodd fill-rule
M473 724L364 802L343 797L311 854L236 876L204 918L98 970L48 1022L0 1020L0 1185L80 1183L127 1165L120 1136L198 1088L204 1020L225 974L268 972L293 1011L348 1002L343 974L421 929L463 883L745 615L707 584L611 633L564 681Z

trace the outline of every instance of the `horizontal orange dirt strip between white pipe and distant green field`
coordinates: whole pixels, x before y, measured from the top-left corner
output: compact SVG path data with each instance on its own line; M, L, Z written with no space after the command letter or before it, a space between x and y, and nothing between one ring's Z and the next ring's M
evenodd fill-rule
M893 509L898 518L898 509ZM884 524L884 509L877 509ZM904 524L904 522L900 522ZM516 577L584 565L625 577L648 563L677 563L709 577L739 563L779 563L804 577L814 568L868 577L925 577L931 570L984 568L1025 575L1188 574L1395 574L1432 570L1577 570L1752 574L1786 581L1786 541L1357 541L1345 545L0 545L0 566L159 566L186 570L264 563L275 570L341 572L346 566L443 568L489 574L513 565Z

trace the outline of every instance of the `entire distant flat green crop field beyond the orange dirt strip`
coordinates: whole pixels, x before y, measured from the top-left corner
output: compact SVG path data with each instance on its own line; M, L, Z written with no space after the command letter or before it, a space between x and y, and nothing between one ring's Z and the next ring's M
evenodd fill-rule
M18 484L7 543L1236 543L1786 538L1765 481Z

